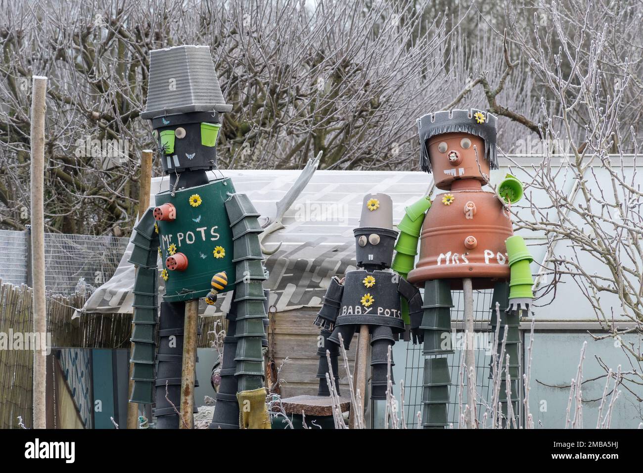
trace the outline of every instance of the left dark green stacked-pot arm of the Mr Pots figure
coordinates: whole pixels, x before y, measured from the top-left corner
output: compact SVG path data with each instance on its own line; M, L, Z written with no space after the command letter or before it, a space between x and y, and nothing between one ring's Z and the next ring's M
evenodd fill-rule
M154 230L152 209L147 209L140 219L132 238L134 248L129 263L136 266L134 278L134 316L132 338L134 345L130 362L133 363L131 379L134 387L130 402L154 402L154 355L156 353L156 324L158 316L158 234Z

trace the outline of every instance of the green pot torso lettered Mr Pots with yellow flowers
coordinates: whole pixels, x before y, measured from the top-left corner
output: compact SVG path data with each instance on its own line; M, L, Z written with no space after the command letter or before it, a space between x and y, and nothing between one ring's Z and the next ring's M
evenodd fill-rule
M230 178L177 190L174 196L169 191L156 194L157 206L172 203L176 207L174 221L157 222L163 261L170 256L168 248L172 244L176 246L177 253L185 254L188 259L184 271L168 271L165 301L191 301L205 297L210 292L212 276L221 271L228 274L228 285L221 292L235 288L231 281L235 274L232 232L224 205L229 198L227 192L235 192ZM190 205L190 197L194 194L201 198L197 207ZM224 257L214 257L213 250L217 246L224 248Z

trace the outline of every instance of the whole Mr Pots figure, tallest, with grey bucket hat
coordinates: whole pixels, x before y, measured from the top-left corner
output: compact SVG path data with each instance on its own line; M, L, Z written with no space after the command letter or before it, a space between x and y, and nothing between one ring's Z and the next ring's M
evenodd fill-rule
M181 398L185 302L206 297L213 304L217 293L230 290L234 302L210 427L269 428L262 355L262 345L267 345L267 298L262 288L266 273L258 241L259 214L246 195L235 192L230 178L208 174L217 167L221 115L231 108L221 93L208 46L151 52L147 109L141 116L152 122L170 189L156 194L156 208L147 210L136 225L130 260L138 266L131 402L154 402L155 389L158 429L179 427L174 406ZM158 255L165 266L165 296L156 354Z

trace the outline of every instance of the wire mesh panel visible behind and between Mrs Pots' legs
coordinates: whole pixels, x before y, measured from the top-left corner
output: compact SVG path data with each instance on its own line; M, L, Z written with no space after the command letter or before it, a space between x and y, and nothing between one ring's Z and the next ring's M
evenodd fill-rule
M473 315L475 323L475 359L476 359L476 392L478 393L476 416L482 421L485 411L491 415L491 396L493 394L493 380L491 375L491 357L493 355L493 333L490 331L489 319L491 318L491 299L493 290L474 291L473 301L475 304ZM452 333L454 353L447 355L449 371L451 373L451 387L449 389L448 420L453 427L458 427L458 410L460 403L460 370L464 363L464 293L462 291L451 292L454 307L451 309L451 321L455 322L455 331ZM522 348L522 344L520 346ZM404 369L404 418L406 427L417 428L417 413L422 411L422 383L424 375L424 359L422 345L413 345L406 342L406 368ZM520 359L520 358L519 358ZM464 373L464 391L462 393L462 405L467 403L467 380ZM519 383L521 386L521 383ZM520 398L522 389L520 388ZM522 409L522 403L518 403ZM521 414L516 413L520 419Z

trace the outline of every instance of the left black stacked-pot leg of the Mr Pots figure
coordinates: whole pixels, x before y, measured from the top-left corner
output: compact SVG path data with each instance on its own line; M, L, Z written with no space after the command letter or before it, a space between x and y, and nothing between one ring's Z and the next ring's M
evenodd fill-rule
M181 403L184 324L185 302L161 302L158 371L154 382L156 388L154 417L156 417L157 429L179 429L180 427L181 421L177 411ZM194 385L197 387L199 380L195 379ZM197 411L195 403L194 412Z

